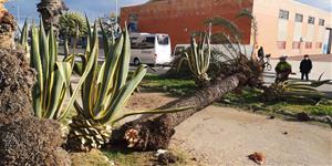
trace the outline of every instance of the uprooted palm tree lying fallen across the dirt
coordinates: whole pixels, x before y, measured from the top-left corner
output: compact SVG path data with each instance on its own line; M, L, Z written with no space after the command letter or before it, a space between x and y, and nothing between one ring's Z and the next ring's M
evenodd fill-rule
M240 43L241 38L237 27L222 18L210 19L207 23L221 25L230 32L229 34L215 33L215 38L218 37L217 39L221 41L222 45L225 44L228 51L222 55L226 61L219 62L222 66L218 71L219 75L214 77L209 86L199 90L193 96L174 101L160 107L172 110L189 106L188 111L154 115L129 122L114 132L113 139L115 142L124 138L128 147L137 151L167 148L175 133L174 127L178 124L209 106L227 92L240 89L242 85L257 86L260 83L261 64L256 59L242 53L241 46L243 45Z

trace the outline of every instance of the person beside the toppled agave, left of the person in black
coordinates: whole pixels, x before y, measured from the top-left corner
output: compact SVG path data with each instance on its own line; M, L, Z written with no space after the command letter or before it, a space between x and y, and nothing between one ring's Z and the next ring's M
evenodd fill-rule
M287 56L281 56L280 62L276 66L276 83L284 82L289 79L289 74L292 73L292 66L286 61Z

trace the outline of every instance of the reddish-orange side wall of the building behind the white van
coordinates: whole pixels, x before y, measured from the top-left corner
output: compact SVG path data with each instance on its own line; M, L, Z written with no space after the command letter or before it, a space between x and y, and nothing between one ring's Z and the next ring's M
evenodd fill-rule
M234 20L243 8L252 9L252 0L160 0L121 9L122 27L127 22L132 31L167 33L175 44L189 43L190 34L207 29L205 20L222 17ZM237 22L250 43L250 20ZM215 30L214 30L215 31Z

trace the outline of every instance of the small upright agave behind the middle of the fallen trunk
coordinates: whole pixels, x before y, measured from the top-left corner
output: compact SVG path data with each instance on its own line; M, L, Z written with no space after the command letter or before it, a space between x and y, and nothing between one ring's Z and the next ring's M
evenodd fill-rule
M210 79L207 74L210 64L210 34L204 33L199 38L197 44L195 35L191 35L190 53L183 53L183 58L178 64L178 69L181 68L184 61L188 62L189 69L197 80L198 85L204 82L208 82Z

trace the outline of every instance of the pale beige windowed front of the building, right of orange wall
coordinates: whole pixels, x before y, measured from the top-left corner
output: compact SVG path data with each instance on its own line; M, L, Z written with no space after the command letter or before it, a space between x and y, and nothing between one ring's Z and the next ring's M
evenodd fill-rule
M274 58L331 53L332 12L294 0L253 0L252 12L257 44L266 53Z

